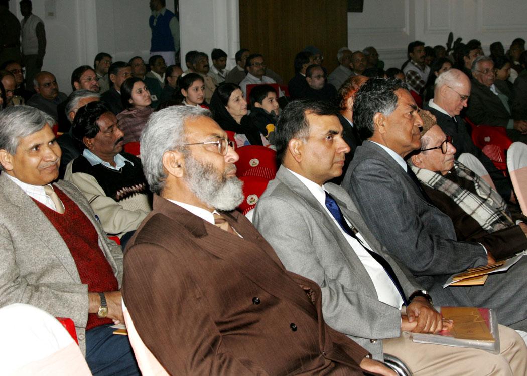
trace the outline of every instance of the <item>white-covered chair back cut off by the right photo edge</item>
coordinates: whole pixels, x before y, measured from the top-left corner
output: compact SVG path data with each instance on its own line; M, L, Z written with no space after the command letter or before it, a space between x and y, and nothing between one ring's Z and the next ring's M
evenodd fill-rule
M527 213L527 145L515 142L507 154L507 167L523 214Z

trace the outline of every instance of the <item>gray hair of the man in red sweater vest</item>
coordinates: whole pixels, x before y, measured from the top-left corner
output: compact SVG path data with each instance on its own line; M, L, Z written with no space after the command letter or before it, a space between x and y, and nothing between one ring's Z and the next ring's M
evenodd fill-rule
M0 111L0 149L15 155L18 142L46 124L52 126L55 120L43 111L30 106L7 107ZM3 170L3 169L2 169Z

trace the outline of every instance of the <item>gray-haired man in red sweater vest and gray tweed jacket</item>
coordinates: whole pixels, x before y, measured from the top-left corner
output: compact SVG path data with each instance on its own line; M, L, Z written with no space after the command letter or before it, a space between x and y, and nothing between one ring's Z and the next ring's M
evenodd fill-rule
M96 375L139 374L123 321L123 254L90 204L58 177L61 149L46 113L28 106L0 114L0 307L34 305L71 318Z

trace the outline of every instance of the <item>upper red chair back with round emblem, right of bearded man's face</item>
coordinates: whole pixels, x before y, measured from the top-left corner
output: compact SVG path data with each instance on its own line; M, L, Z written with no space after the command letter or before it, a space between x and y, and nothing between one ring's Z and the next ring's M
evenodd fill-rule
M259 176L267 180L275 179L276 152L265 146L249 145L239 147L236 152L240 156L236 162L236 175Z

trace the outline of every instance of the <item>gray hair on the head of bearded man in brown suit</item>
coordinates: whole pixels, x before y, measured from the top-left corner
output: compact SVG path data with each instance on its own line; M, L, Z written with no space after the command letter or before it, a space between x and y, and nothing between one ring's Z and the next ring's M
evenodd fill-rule
M212 114L194 106L170 106L154 112L144 126L139 141L141 163L153 193L161 193L167 179L163 171L163 154L171 150L186 154L184 125L198 117L212 117Z

